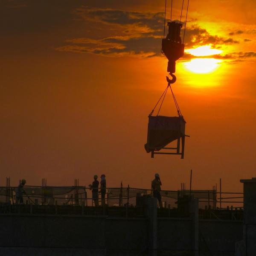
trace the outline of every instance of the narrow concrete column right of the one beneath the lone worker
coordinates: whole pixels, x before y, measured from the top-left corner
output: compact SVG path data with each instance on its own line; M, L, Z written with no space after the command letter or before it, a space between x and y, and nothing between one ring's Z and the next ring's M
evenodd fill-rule
M189 215L193 222L193 247L194 256L198 256L199 249L199 218L198 218L198 198L191 198L189 201Z

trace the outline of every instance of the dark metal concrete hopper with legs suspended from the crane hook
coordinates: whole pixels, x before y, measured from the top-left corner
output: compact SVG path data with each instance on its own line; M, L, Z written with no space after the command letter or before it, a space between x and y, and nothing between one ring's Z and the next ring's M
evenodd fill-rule
M154 157L154 154L180 154L181 158L184 158L185 124L183 116L148 116L148 139L145 144L147 153L151 152L151 157ZM175 140L177 140L176 148L165 147ZM175 152L155 152L161 149L175 150Z

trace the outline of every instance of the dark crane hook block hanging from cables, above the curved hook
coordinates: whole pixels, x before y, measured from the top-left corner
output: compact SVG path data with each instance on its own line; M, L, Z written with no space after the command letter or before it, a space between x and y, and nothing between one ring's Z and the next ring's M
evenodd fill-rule
M167 71L175 73L175 61L184 55L184 44L181 43L180 29L181 23L175 21L168 22L168 34L166 38L162 39L162 51L168 58Z

